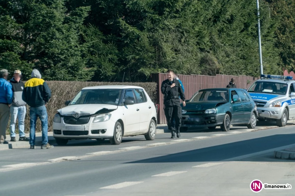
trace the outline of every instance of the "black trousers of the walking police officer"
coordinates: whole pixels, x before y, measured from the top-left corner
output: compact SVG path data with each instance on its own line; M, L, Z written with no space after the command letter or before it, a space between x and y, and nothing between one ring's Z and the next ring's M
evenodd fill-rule
M179 131L181 126L181 106L165 105L165 116L167 119L168 129L171 130L171 132ZM175 127L173 123L174 120L175 120Z

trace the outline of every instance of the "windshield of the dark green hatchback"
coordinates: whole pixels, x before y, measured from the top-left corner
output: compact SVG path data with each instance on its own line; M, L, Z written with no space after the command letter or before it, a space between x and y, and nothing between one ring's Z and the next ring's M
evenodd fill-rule
M228 92L224 90L199 91L189 102L196 101L228 101Z

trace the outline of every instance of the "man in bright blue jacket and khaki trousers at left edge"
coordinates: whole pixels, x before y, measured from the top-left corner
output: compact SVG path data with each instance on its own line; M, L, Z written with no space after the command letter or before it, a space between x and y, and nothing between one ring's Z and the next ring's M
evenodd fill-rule
M6 128L13 98L12 86L7 81L8 75L7 69L0 70L0 144L8 144L6 142Z

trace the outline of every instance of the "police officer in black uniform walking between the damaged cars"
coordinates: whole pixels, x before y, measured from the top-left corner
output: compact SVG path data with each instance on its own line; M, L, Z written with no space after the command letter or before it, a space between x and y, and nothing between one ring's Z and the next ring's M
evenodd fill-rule
M167 119L168 129L171 130L171 138L175 138L175 130L177 137L180 137L181 126L181 106L179 96L182 99L183 106L185 103L185 96L178 80L174 79L172 70L167 71L168 79L164 80L161 85L161 92L164 95L165 116ZM173 121L175 120L175 127Z

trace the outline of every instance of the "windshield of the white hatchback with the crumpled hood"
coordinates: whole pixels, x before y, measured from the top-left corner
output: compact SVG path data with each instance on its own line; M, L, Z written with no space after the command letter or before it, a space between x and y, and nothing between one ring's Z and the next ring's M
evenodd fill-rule
M89 89L80 91L70 105L110 104L118 105L121 89Z

